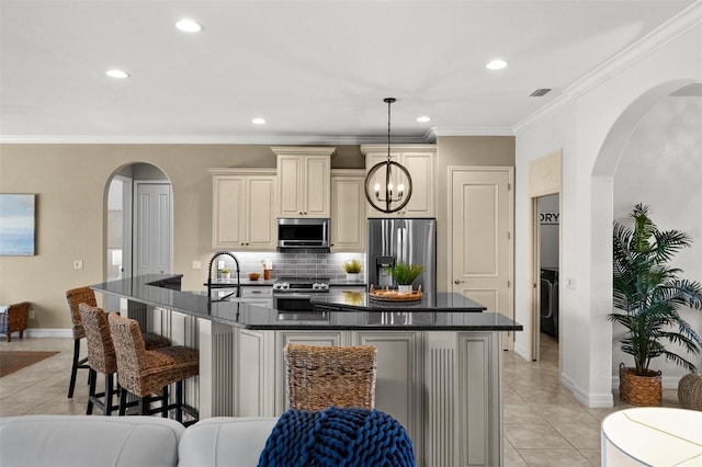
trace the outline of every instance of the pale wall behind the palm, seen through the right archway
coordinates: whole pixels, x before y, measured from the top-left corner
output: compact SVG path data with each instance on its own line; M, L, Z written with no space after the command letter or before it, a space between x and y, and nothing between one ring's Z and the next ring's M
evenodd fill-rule
M702 281L702 96L665 98L648 111L632 134L614 173L614 218L625 220L637 203L649 206L658 228L682 230L693 239L670 264L683 270L682 277ZM702 330L702 312L686 309L682 317ZM614 330L612 375L619 362L632 366L630 355L619 350L621 329ZM702 355L676 353L702 368ZM652 369L661 369L664 384L677 387L687 373L681 366L657 358Z

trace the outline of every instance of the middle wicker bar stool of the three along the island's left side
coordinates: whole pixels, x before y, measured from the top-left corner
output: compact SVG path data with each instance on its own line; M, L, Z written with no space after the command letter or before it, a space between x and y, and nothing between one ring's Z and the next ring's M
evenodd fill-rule
M90 365L90 394L86 413L90 415L93 406L97 406L102 410L103 415L111 415L118 408L112 403L115 396L114 374L117 372L117 357L114 353L107 314L102 308L91 307L88 304L80 304L78 309L86 331ZM105 376L104 392L95 392L98 372Z

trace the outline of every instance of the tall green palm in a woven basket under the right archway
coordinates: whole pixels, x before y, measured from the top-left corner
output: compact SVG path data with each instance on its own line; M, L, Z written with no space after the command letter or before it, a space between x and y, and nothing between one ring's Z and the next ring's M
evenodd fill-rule
M690 237L679 230L658 230L648 217L648 206L638 204L630 214L632 223L614 223L615 311L610 321L624 327L622 352L634 357L634 366L620 365L620 399L636 406L659 406L663 399L660 372L649 369L652 360L667 360L694 372L684 356L666 348L676 343L693 355L702 340L680 316L680 308L702 308L702 286L679 276L681 270L667 263L681 249L690 247Z

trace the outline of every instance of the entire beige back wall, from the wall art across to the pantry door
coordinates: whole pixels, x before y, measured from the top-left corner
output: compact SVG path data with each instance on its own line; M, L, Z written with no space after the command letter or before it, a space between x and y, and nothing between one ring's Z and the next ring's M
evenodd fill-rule
M442 137L438 141L439 235L445 238L445 176L449 166L513 166L511 137ZM127 164L160 168L173 187L173 271L184 288L202 288L212 254L212 167L275 167L268 145L2 145L0 192L36 193L37 254L0 257L0 303L29 300L31 328L68 329L66 291L103 282L105 187ZM358 146L338 146L332 168L363 168ZM439 271L445 270L439 242ZM83 269L75 270L73 260ZM439 276L440 288L445 277Z

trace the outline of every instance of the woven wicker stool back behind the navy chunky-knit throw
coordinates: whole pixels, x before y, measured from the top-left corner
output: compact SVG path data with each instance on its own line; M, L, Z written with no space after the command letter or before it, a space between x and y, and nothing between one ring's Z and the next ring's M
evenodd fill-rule
M373 345L287 344L284 356L290 409L373 409L377 368Z

